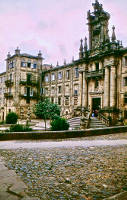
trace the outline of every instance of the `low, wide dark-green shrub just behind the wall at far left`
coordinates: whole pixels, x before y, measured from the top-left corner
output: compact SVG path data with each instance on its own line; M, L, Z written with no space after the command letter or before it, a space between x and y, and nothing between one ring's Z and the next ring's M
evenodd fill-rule
M15 124L10 126L9 132L28 132L32 131L32 128L29 126L23 126L21 124Z

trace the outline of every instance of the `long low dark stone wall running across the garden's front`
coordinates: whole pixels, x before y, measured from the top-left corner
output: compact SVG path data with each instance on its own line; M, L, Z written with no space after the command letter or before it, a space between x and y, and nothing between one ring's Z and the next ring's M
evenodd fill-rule
M66 139L77 137L89 137L109 135L127 132L127 126L106 127L86 130L69 130L69 131L32 131L32 132L2 132L0 141L5 140L22 140L22 139Z

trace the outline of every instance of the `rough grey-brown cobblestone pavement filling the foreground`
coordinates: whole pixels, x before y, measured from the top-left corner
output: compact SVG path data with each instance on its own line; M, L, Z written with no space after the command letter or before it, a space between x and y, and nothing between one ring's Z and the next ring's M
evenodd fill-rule
M81 140L96 144L98 139L127 140L127 133ZM0 155L26 183L30 197L101 200L127 191L127 145L2 149Z

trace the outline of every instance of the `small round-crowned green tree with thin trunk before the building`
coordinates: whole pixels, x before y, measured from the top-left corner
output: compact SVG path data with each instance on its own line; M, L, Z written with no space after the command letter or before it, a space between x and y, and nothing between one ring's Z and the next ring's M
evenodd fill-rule
M60 115L60 108L57 104L53 104L49 99L39 101L34 107L34 113L37 117L44 120L46 130L46 120L52 120L55 116Z

